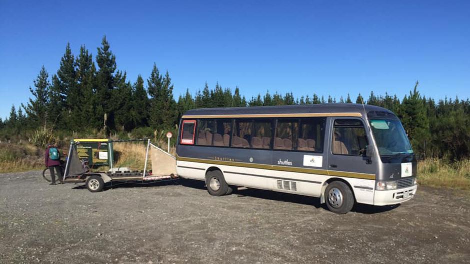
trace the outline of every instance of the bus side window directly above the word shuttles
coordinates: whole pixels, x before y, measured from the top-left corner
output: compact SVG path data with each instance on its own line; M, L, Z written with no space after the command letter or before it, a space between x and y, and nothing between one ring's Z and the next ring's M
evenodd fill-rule
M297 119L298 120L298 119ZM276 136L274 138L274 149L292 150L297 141L298 122L292 119L278 119Z

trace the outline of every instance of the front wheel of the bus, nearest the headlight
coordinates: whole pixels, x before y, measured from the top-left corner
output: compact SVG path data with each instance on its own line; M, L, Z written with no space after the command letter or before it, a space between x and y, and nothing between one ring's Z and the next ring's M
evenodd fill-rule
M351 188L340 181L334 181L326 186L324 198L328 210L336 214L345 214L351 211L354 205Z

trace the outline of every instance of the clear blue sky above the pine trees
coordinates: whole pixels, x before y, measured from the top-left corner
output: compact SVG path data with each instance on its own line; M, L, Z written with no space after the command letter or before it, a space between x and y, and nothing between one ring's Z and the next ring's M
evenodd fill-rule
M65 45L106 35L134 82L153 62L177 97L207 82L257 93L470 97L470 1L0 1L0 117Z

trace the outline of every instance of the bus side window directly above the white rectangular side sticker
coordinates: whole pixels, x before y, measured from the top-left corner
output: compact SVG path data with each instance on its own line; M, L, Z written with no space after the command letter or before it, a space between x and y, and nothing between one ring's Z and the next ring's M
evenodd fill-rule
M323 152L325 118L300 119L297 150Z

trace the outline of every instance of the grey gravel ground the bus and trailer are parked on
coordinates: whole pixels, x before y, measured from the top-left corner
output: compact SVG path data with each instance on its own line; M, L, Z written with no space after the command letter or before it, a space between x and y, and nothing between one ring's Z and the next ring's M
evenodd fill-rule
M49 186L0 174L0 263L470 263L470 199L420 187L335 215L316 198L201 184Z

